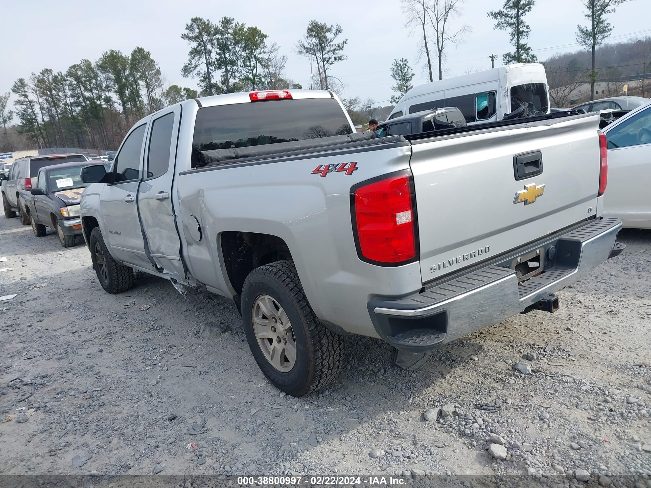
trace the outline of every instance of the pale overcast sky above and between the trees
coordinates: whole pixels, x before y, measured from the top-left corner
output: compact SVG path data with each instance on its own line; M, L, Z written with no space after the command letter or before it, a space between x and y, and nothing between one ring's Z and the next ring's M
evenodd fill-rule
M331 70L346 84L346 97L371 97L387 105L393 85L389 68L399 57L406 57L414 68L415 85L427 81L416 62L417 37L404 27L399 0L23 0L3 4L0 93L10 90L16 79L43 68L65 71L81 59L95 61L107 49L128 54L135 46L151 52L169 84L196 87L195 80L180 74L189 49L180 35L193 16L212 21L231 16L259 27L288 56L288 77L304 87L309 85L310 64L294 50L312 19L339 23L342 37L348 38L348 59ZM502 5L503 0L466 0L462 16L451 25L465 23L473 32L464 44L447 50L447 76L490 68L491 53L510 51L508 33L493 29L494 22L486 15ZM650 18L650 0L624 3L609 16L615 26L612 42L651 35ZM539 59L578 49L576 25L584 23L581 0L537 0L526 20L531 25L529 44Z

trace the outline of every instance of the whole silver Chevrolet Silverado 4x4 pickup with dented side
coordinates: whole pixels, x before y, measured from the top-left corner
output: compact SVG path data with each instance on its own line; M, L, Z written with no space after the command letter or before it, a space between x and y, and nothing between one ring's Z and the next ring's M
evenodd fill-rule
M83 235L109 293L139 269L233 299L262 371L301 396L333 380L344 334L415 368L514 314L553 312L554 291L618 254L598 122L375 138L330 92L186 100L137 122L110 170L83 169Z

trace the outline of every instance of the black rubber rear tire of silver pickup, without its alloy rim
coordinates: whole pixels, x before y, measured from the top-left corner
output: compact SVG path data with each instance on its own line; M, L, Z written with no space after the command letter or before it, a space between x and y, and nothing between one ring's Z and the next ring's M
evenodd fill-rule
M258 345L252 312L260 295L273 297L292 324L296 362L289 372L271 366ZM316 318L292 261L266 264L249 273L242 287L242 323L260 370L276 388L288 395L303 396L324 388L343 366L344 337L327 329Z

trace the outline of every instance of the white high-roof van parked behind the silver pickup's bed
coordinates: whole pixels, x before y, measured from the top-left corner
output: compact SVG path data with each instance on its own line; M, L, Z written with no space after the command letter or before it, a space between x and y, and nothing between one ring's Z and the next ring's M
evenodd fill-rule
M404 94L387 120L436 107L457 107L467 124L544 115L549 113L545 67L525 62L425 83Z

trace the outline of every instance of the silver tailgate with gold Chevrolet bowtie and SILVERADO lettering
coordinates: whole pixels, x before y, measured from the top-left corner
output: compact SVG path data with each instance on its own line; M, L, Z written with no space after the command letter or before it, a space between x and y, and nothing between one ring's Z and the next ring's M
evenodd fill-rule
M597 129L589 114L414 141L422 282L595 215ZM516 180L538 151L542 172Z

